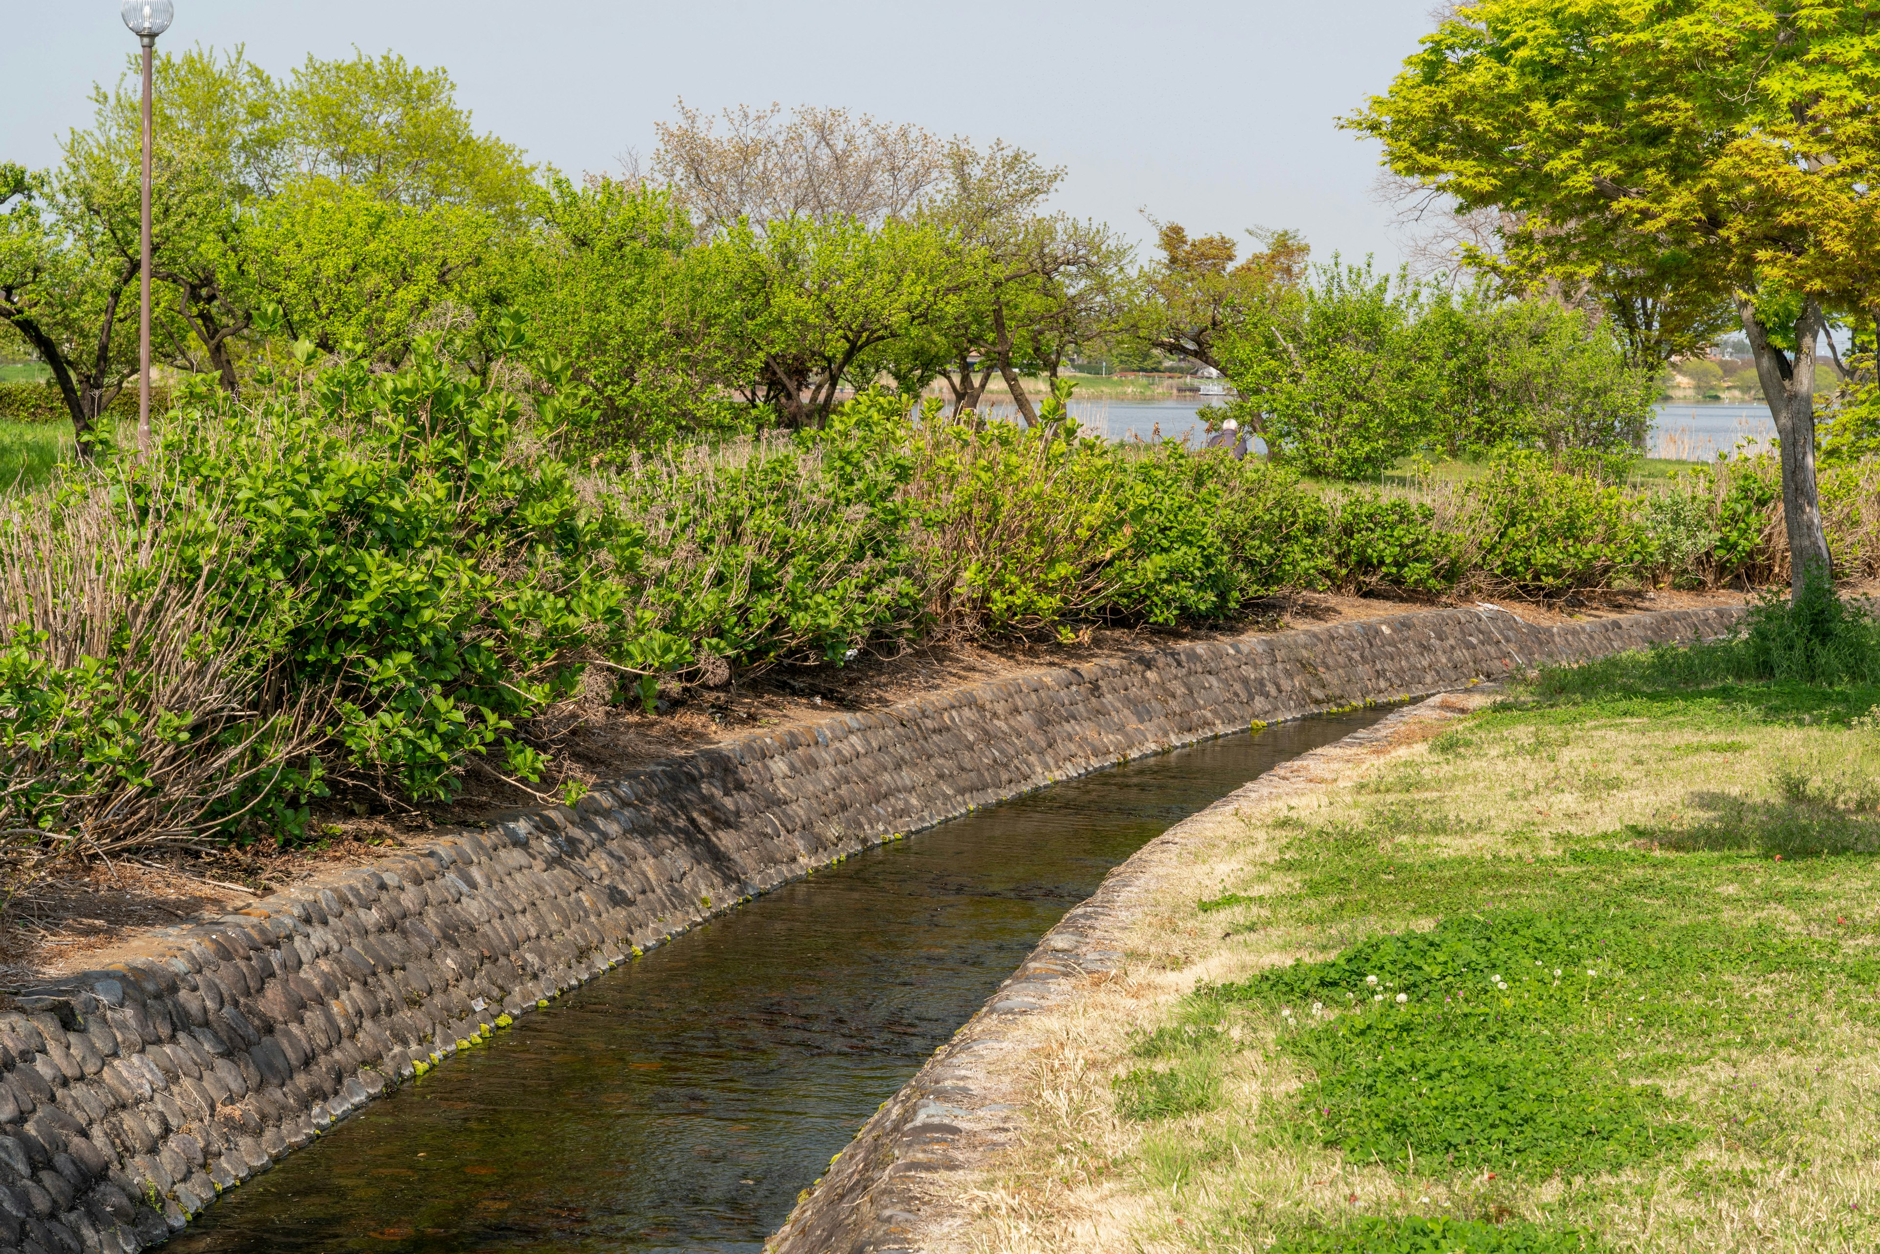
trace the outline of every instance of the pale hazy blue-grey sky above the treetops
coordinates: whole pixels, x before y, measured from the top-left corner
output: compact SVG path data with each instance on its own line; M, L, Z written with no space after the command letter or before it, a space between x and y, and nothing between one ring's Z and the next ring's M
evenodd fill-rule
M1314 256L1401 239L1372 199L1376 145L1337 117L1389 83L1429 0L874 4L773 0L175 0L160 47L246 45L444 66L479 130L572 175L650 156L673 103L846 105L940 135L1006 139L1068 177L1057 207L1136 241L1143 209L1190 233L1293 227ZM0 160L49 165L94 83L135 51L115 0L0 0Z

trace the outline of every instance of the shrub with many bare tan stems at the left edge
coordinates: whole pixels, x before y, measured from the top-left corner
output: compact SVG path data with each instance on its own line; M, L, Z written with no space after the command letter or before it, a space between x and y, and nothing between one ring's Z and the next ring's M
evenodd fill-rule
M318 763L288 763L321 694L258 713L280 671L222 613L211 572L248 560L239 519L184 487L132 525L120 489L92 474L0 515L9 895L70 854L190 844L250 812L305 822L290 803L316 784Z

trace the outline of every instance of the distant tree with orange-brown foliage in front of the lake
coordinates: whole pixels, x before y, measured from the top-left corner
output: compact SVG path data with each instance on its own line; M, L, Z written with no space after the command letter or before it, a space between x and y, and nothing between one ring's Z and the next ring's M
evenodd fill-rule
M1141 276L1130 335L1169 355L1226 372L1218 344L1248 308L1275 290L1295 288L1312 248L1295 231L1252 229L1261 250L1235 263L1239 244L1228 235L1190 239L1177 222L1149 220L1162 258Z

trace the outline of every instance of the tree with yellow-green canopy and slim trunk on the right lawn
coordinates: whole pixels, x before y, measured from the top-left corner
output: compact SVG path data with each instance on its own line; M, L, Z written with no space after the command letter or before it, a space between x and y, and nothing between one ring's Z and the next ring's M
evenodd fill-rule
M1521 214L1510 252L1536 273L1656 250L1679 258L1679 299L1735 306L1780 434L1797 592L1829 564L1816 350L1880 276L1874 24L1863 0L1472 0L1346 120L1461 211Z

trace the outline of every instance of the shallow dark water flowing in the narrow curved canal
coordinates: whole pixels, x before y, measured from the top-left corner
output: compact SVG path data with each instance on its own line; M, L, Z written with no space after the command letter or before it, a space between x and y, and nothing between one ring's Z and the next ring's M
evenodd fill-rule
M1363 711L1175 750L790 884L521 1019L171 1250L761 1250L1104 874Z

